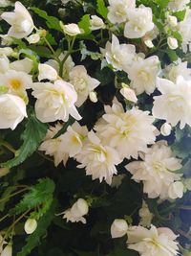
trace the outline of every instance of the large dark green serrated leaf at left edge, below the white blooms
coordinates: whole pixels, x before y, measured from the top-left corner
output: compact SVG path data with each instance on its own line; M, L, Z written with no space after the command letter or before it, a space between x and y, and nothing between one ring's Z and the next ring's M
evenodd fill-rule
M47 133L47 128L47 125L37 120L34 113L32 113L22 134L23 145L16 151L15 157L5 163L1 163L1 167L11 168L23 163L37 150Z

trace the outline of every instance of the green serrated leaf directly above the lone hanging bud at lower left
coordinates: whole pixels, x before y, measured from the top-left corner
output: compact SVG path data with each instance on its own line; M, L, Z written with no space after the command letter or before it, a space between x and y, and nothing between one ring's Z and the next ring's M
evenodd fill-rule
M50 208L53 201L55 185L50 178L41 178L38 183L32 186L30 192L26 193L21 201L10 211L10 215L21 214L42 205L41 211L37 214L39 219ZM34 216L32 216L34 218Z

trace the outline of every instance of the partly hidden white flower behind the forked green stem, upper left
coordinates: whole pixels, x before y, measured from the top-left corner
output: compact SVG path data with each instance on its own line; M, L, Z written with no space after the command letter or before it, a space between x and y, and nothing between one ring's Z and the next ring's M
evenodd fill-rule
M61 54L59 56L59 59L62 61L66 56L66 53ZM57 61L55 61L54 59L49 59L47 62L45 62L46 64L52 66L57 73L59 73L59 64ZM71 56L69 56L66 61L64 62L64 66L63 66L63 70L62 70L62 78L65 81L69 81L69 74L72 71L72 69L74 68L74 61L73 58Z

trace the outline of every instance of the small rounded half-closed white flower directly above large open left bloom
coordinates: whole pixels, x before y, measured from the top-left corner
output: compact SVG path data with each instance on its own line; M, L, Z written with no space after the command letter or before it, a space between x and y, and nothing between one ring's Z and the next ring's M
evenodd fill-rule
M38 81L50 80L54 81L57 79L57 71L48 64L38 64Z

